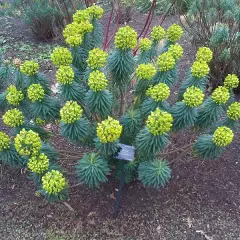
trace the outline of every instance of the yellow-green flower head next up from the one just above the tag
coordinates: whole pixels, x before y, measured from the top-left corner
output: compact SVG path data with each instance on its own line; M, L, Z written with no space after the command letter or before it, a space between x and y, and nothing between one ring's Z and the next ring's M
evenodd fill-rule
M108 80L103 72L98 70L91 72L88 79L89 88L94 91L103 91L108 85Z

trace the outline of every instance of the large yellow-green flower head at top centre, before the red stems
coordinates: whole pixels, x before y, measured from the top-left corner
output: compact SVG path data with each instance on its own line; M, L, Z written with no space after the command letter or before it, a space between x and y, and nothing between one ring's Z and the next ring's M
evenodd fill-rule
M122 50L133 49L137 45L137 32L129 26L118 29L114 44Z

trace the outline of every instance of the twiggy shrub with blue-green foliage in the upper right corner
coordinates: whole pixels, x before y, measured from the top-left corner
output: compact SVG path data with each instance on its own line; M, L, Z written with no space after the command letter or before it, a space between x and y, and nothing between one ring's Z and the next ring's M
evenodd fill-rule
M181 20L195 46L208 46L214 53L210 63L213 89L223 83L229 72L240 76L239 1L194 0Z

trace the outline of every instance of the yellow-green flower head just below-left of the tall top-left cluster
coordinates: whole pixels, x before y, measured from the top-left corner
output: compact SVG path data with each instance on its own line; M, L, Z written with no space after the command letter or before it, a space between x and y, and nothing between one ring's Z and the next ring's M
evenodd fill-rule
M56 47L51 55L51 61L56 67L68 66L72 63L71 52L64 47Z

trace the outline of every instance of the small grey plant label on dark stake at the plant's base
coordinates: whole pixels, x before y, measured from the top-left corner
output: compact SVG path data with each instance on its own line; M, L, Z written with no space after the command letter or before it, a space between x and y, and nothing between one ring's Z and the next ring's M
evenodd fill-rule
M115 209L114 209L114 217L116 218L119 213L120 209L120 203L121 203L121 195L125 183L125 164L126 161L132 162L134 160L135 156L135 147L133 146L128 146L125 144L119 144L120 151L115 157L118 160L121 160L121 176L120 176L120 183L119 183L119 189L116 197L116 204L115 204Z

